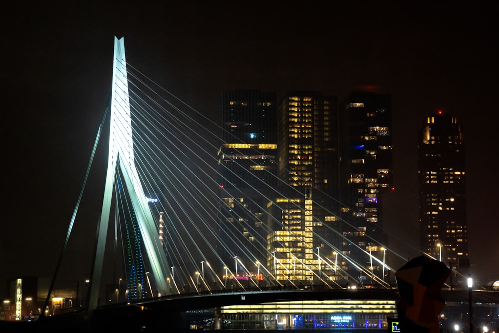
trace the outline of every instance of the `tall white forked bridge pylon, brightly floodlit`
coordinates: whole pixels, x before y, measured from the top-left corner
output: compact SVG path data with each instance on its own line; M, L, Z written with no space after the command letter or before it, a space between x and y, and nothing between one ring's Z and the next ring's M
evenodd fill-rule
M128 189L132 206L142 234L144 247L151 265L150 270L155 278L158 291L167 293L165 272L169 266L163 247L158 237L158 228L145 200L144 190L135 168L132 141L132 121L130 118L130 100L128 95L128 80L125 60L125 43L123 37L114 37L113 82L110 107L109 157L107 164L102 213L98 226L95 262L90 280L90 295L88 311L97 308L99 284L102 276L104 250L109 224L111 200L116 168L119 167L123 177L122 182Z

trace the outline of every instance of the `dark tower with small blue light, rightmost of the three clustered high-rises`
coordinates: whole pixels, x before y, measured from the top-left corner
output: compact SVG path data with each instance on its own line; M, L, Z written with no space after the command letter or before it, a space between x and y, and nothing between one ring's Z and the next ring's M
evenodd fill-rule
M340 103L342 251L368 271L345 261L341 268L361 283L384 279L383 264L373 257L381 261L386 251L382 200L392 188L391 109L391 96L374 92L352 92Z

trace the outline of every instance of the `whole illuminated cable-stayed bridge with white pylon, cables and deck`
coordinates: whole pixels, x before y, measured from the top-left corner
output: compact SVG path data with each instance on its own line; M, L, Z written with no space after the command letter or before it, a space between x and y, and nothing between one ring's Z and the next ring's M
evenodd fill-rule
M231 305L241 302L243 294L246 303L256 304L397 299L393 272L407 258L384 240L356 245L342 233L342 225L352 226L338 211L312 204L311 192L290 186L270 171L254 177L244 167L248 161L236 158L231 169L223 170L219 155L220 147L228 144L221 140L224 130L212 116L189 107L128 63L123 38L115 38L109 105L64 245L95 151L104 144L108 160L85 306L89 315L100 308L102 298L116 304L112 311L142 306L177 312ZM248 144L233 147L240 148ZM261 152L255 148L254 154ZM250 169L260 170L257 164ZM246 183L244 189L222 186L227 174ZM252 201L248 191L267 204ZM342 206L335 198L331 201ZM269 205L282 215L267 213ZM334 225L315 215L317 206L334 217ZM284 215L294 223L283 223ZM325 238L320 232L324 229L334 237ZM110 238L112 265L105 256ZM356 247L355 256L343 251L345 242ZM109 269L113 279L103 281L103 271ZM351 288L362 292L351 294Z

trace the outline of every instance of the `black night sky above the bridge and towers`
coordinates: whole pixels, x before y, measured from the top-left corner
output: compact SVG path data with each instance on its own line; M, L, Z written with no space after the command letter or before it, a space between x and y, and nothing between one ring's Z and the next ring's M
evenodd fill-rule
M129 63L207 115L219 112L224 90L278 97L317 90L340 100L362 89L391 94L396 191L386 199L385 227L415 245L417 130L438 109L456 116L466 140L471 273L482 283L499 279L494 8L450 1L71 2L9 1L2 10L0 281L54 271L110 91L115 35L125 37ZM79 250L90 252L95 229L85 224L75 237ZM73 261L74 279L87 277L89 267Z

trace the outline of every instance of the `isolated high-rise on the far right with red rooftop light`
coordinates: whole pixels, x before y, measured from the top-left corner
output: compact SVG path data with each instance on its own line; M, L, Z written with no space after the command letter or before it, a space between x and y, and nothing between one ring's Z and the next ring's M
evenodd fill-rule
M465 179L463 131L438 111L418 135L420 241L422 251L453 268L469 266Z

